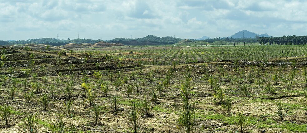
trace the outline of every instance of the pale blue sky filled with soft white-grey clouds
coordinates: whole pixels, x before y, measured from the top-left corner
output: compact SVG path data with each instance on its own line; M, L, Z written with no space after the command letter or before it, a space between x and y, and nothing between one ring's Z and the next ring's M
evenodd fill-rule
M306 35L305 0L0 0L0 40Z

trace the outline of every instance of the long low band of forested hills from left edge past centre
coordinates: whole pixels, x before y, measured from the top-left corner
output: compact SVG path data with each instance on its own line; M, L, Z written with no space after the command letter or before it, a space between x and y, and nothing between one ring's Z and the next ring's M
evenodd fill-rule
M182 39L180 38L174 38L174 37L158 37L149 35L144 38L136 38L136 39L128 39L128 38L115 38L106 42L109 43L122 43L124 45L165 45L165 44L174 44ZM92 39L73 39L73 40L57 40L55 38L39 38L39 39L29 39L29 40L16 40L16 41L3 41L0 40L0 45L13 45L13 44L29 44L29 43L35 43L35 44L49 44L49 45L65 45L68 43L97 43L102 40L92 40Z

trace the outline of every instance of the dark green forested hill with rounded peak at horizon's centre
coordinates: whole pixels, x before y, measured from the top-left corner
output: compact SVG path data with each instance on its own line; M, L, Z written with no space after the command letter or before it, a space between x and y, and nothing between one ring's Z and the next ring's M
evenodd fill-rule
M170 36L166 37L158 37L149 35L143 38L115 38L109 40L109 43L122 43L124 45L166 45L166 44L174 44L181 41L181 38L174 38Z

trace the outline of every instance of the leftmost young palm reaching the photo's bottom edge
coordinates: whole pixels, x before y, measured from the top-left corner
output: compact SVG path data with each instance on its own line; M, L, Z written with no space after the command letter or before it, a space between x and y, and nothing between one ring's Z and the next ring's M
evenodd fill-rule
M37 126L38 126L38 118L37 113L34 115L30 113L27 115L26 118L23 119L25 126L27 126L28 131L30 133L38 133Z

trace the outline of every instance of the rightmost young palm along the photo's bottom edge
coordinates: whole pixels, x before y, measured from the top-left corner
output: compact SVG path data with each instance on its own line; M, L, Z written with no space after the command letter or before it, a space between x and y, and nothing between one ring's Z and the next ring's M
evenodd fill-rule
M241 113L238 109L238 113L235 119L235 125L238 126L240 133L245 132L248 121L249 121L249 117L245 116L244 113Z

